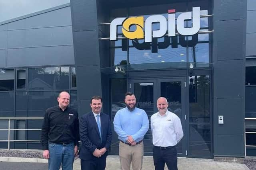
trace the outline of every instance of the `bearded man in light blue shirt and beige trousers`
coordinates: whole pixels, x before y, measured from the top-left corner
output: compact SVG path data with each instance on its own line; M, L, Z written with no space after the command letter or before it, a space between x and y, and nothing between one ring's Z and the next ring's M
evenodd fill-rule
M126 107L116 112L114 130L118 134L119 157L122 170L141 170L144 154L143 138L148 131L148 115L136 107L133 93L127 92Z

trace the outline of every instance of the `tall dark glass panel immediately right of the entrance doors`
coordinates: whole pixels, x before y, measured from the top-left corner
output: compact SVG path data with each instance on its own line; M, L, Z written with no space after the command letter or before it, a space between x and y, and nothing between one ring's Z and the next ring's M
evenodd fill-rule
M210 77L189 77L190 156L211 156Z

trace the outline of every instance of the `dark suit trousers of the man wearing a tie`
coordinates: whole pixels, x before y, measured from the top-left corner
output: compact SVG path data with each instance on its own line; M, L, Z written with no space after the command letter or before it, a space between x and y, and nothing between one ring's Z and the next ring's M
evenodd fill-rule
M93 160L81 159L81 170L105 170L107 156L102 155L100 158L94 158Z

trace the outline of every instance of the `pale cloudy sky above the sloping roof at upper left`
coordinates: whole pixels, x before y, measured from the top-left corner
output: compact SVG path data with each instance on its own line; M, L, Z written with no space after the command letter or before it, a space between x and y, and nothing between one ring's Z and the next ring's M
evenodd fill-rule
M69 2L70 0L0 0L0 22Z

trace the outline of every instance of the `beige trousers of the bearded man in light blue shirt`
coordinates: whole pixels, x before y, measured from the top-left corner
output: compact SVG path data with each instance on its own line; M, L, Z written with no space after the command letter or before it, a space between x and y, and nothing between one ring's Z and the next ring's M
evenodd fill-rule
M143 141L140 144L134 146L129 146L119 142L119 158L122 170L130 170L131 162L133 170L141 170L143 154Z

